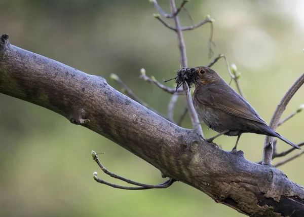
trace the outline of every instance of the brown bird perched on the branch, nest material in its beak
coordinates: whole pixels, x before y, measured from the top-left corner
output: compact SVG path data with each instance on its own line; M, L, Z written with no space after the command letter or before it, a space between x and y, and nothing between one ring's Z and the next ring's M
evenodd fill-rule
M208 141L222 134L238 136L232 150L236 151L242 133L257 133L277 137L290 146L300 149L296 144L273 131L254 108L227 85L213 69L198 66L182 68L178 73L180 71L183 73L182 77L177 76L177 85L181 86L182 82L187 82L189 86L191 83L195 84L193 96L195 109L209 128L219 132Z

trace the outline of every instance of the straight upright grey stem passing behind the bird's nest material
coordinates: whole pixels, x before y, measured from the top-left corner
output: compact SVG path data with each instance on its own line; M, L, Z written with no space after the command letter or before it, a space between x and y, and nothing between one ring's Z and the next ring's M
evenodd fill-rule
M172 12L172 14L174 14L176 12L175 0L170 0L170 5L171 5L171 12ZM178 48L179 48L179 53L180 53L181 67L187 67L186 48L185 48L185 43L183 40L183 34L182 34L178 16L174 17L174 22L175 22L176 33L177 33L177 41L178 41ZM187 105L189 108L189 114L190 114L192 125L198 134L204 136L202 126L200 125L200 120L199 120L198 114L195 111L195 108L193 105L192 96L191 96L191 92L189 91L189 87L188 87L187 92L188 93L185 95L185 99L186 99L186 102L187 102Z

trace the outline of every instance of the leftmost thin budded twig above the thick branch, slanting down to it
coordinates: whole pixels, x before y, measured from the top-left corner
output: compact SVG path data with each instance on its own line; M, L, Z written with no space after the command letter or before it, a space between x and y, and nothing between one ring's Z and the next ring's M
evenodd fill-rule
M149 104L147 104L146 102L142 101L138 96L135 95L135 93L133 93L133 91L127 86L125 85L125 83L116 75L116 74L111 74L110 78L117 82L126 92L126 94L128 96L130 96L132 99L134 99L135 101L137 101L139 104L145 106L146 108L148 108L149 110L153 111L154 113L158 114L159 116L167 119L168 121L174 123L174 121L172 119L169 119L167 116L165 116L164 114L158 112L157 110L155 110L153 107L151 107ZM173 89L173 88L172 88ZM173 89L175 91L175 89Z

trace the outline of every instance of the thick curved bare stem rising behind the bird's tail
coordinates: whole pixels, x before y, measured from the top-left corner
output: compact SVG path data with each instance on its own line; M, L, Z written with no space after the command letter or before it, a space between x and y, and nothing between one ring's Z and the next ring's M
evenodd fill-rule
M270 128L275 130L278 127L280 118L289 103L290 99L293 95L297 92L297 90L303 85L304 83L304 73L295 81L295 83L289 88L287 93L281 99L280 103L278 104L276 111L273 114L273 117L270 121ZM273 137L266 136L264 142L264 150L263 150L263 159L262 164L271 165L272 156L273 156Z

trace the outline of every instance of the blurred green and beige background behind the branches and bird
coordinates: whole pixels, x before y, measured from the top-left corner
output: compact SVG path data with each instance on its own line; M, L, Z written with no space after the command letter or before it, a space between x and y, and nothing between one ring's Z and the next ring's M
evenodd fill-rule
M181 1L176 1L179 5ZM159 0L169 12L169 1ZM215 54L224 53L241 71L246 99L267 122L288 88L304 68L304 2L195 1L185 8L194 23L210 14L214 22ZM0 1L1 34L13 45L109 79L116 73L141 99L162 113L170 95L139 79L141 67L159 81L172 78L180 66L176 34L152 14L145 1ZM192 22L186 11L182 25ZM172 23L171 20L168 22ZM206 65L210 25L184 32L188 65ZM214 69L229 81L223 60ZM168 85L174 85L174 82ZM235 85L233 84L235 88ZM291 100L284 117L304 103L304 88ZM184 100L178 100L176 119ZM0 94L0 216L243 216L217 204L202 192L175 183L165 190L125 191L97 184L99 171L91 150L103 152L102 163L112 172L138 182L163 182L160 172L117 144L65 118ZM304 114L277 131L293 142L303 141ZM186 117L183 127L191 128ZM205 136L215 134L203 125ZM264 136L244 134L239 149L251 161L261 160ZM216 142L231 150L236 138ZM289 149L278 141L279 151ZM281 159L276 159L275 162ZM280 167L298 184L304 156Z

